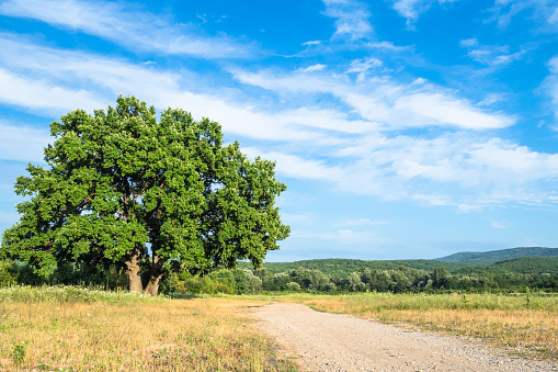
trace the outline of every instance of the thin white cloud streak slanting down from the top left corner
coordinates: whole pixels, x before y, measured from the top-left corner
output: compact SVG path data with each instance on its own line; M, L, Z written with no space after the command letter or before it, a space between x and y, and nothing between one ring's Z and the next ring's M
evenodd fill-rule
M257 53L251 44L227 36L201 36L173 25L160 14L130 3L82 0L5 0L0 14L31 18L110 40L133 50L163 55L184 54L200 58L246 58Z

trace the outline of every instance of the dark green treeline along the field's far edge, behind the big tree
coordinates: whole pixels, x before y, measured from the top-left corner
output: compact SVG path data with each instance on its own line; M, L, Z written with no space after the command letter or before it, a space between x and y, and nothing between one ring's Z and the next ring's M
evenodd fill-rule
M557 262L553 262L556 260ZM527 288L558 292L558 259L522 258L481 268L449 272L443 267L421 270L397 267L375 270L361 267L348 274L326 274L319 269L298 267L272 272L266 266L220 269L205 275L187 271L168 273L161 281L161 293L250 294L266 292L524 292ZM540 270L547 269L547 272ZM147 281L147 277L144 278ZM36 274L27 264L0 262L0 285L72 284L98 285L107 290L127 290L124 268L111 266L95 269L68 263L56 268L48 277Z

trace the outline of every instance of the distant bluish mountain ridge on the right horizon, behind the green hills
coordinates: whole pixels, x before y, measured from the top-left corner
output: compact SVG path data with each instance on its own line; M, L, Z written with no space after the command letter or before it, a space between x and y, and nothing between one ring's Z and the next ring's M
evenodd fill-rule
M522 257L558 257L558 248L521 247L486 252L459 252L442 258L436 261L459 262L465 266L488 266L499 261L511 260Z

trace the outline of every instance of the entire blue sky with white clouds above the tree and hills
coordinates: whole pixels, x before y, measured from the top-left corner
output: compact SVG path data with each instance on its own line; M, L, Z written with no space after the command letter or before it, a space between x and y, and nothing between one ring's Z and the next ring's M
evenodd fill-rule
M269 261L557 247L558 2L0 0L0 229L48 125L134 94L276 161Z

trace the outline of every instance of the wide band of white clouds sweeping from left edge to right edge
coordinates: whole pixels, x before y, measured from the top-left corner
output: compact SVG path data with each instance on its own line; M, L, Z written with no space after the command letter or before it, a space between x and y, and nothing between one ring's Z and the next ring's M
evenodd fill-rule
M103 109L115 94L134 93L159 109L182 106L194 117L219 121L228 135L255 140L258 145L243 150L276 160L283 177L318 181L340 192L463 211L500 203L557 204L550 190L558 180L558 155L493 137L490 131L511 125L514 119L480 110L425 81L405 86L367 79L363 87L327 68L283 74L237 70L234 77L240 86L231 97L219 89L196 92L195 76L191 79L189 71L0 36L1 72L10 82L0 84L0 102L13 104L16 97L22 110L37 110L34 95L25 95L37 88L41 108L60 111ZM77 90L76 84L88 88ZM242 103L242 84L280 98L296 93L296 100L303 98L305 103L297 105L295 100L282 109L254 109ZM56 91L68 92L67 99L53 94ZM70 94L77 91L81 94ZM330 104L331 100L320 103L316 97L323 94L342 106ZM371 102L382 109L379 113L365 111ZM348 105L352 112L348 113ZM439 131L430 135L405 134L406 128L433 126ZM483 134L487 128L489 134ZM13 146L23 140L12 136Z

